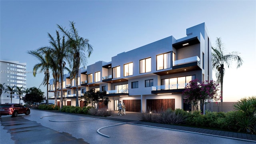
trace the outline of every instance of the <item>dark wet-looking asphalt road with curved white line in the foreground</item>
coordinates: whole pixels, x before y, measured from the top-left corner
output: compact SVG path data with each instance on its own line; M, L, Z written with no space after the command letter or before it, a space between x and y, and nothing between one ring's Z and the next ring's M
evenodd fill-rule
M1 144L255 144L232 138L180 132L31 109L0 118Z

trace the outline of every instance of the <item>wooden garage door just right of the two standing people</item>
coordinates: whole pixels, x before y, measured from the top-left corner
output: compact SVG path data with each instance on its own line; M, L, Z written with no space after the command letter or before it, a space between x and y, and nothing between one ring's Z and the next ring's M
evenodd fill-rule
M123 100L127 112L140 112L140 100Z

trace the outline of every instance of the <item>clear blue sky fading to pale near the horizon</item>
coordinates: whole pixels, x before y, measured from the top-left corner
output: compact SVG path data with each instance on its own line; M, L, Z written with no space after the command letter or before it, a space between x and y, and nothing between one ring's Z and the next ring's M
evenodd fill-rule
M121 52L174 36L186 36L186 28L206 23L212 45L221 37L227 52L238 51L244 60L236 69L226 67L223 101L256 96L256 1L68 1L0 0L0 59L27 63L38 61L27 54L49 45L47 32L55 36L56 24L76 23L80 36L94 51L88 65L110 62ZM214 80L215 72L213 72ZM43 74L26 74L27 88L40 86ZM44 92L46 88L40 87Z

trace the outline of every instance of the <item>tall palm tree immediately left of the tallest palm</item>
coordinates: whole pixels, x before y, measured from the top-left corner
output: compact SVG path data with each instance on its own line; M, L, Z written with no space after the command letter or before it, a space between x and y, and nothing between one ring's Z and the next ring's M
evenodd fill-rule
M49 50L51 52L52 57L56 58L58 73L60 76L60 110L61 110L63 106L63 75L64 75L63 71L68 70L68 68L66 68L66 62L65 62L65 60L68 59L68 50L66 47L65 36L62 36L61 38L57 30L56 30L56 40L49 33L48 33L48 37L50 38Z

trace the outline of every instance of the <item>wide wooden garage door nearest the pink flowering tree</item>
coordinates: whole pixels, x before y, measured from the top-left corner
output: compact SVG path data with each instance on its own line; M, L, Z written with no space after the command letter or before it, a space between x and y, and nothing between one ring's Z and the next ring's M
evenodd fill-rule
M175 99L147 99L147 112L151 111L165 111L168 108L175 109Z

